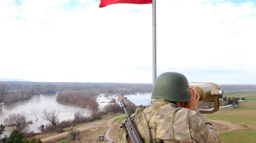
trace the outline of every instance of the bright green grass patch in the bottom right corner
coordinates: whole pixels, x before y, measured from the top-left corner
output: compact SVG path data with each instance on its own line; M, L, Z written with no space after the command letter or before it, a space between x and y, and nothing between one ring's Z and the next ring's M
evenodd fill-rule
M242 130L232 131L219 135L222 143L240 143L240 142L255 142L256 131L255 130Z

